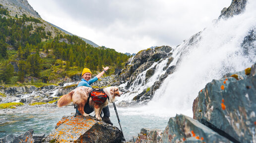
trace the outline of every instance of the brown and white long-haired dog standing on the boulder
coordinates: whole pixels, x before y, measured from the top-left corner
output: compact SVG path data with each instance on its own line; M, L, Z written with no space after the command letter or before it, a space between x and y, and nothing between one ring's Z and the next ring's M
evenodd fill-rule
M58 100L58 107L63 107L73 102L74 104L77 105L78 111L83 116L88 116L88 114L84 112L84 106L85 104L87 104L87 99L89 98L89 93L91 91L92 91L92 88L90 87L79 86L74 90L72 90L71 92L69 92L68 94L62 96ZM103 103L102 105L94 103L92 98L89 99L89 105L90 107L94 107L95 117L98 120L101 120L100 113L102 109L106 107L109 104L109 102L113 103L115 101L116 96L120 97L123 94L121 91L119 91L117 87L114 87L114 86L106 87L103 89L103 91L107 94L107 96L109 97L109 100L107 99L106 102Z

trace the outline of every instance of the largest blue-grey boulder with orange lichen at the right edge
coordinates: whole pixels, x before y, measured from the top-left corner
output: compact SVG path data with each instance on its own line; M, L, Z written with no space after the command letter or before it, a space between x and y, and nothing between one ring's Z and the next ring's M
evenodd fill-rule
M245 71L212 80L193 103L193 118L233 142L256 142L256 64ZM230 77L238 75L238 80Z

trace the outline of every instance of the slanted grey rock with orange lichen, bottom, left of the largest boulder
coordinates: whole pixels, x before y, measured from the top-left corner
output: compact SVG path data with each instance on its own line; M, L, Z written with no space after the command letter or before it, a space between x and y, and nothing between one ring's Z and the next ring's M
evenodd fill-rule
M197 120L182 114L169 119L161 141L163 143L232 143Z

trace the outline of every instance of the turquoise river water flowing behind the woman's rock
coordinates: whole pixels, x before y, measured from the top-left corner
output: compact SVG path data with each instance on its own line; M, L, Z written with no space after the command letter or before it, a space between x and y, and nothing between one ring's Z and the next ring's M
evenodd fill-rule
M141 128L162 129L167 126L169 118L154 117L152 115L142 115L134 113L134 108L117 107L121 126L126 140L131 140L132 136L137 136ZM20 135L34 130L34 134L48 135L55 129L57 122L64 115L74 113L73 106L68 107L46 107L45 109L31 109L21 113L0 114L0 138L8 135ZM111 121L114 126L120 129L117 116L113 107L110 107ZM93 113L91 115L94 115Z

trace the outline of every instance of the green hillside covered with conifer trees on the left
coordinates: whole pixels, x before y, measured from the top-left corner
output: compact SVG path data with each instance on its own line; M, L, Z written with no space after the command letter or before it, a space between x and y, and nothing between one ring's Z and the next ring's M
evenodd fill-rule
M0 5L0 84L45 85L72 77L87 67L97 73L102 66L115 72L129 56L105 47L95 48L77 36L52 36L40 19L11 17Z

